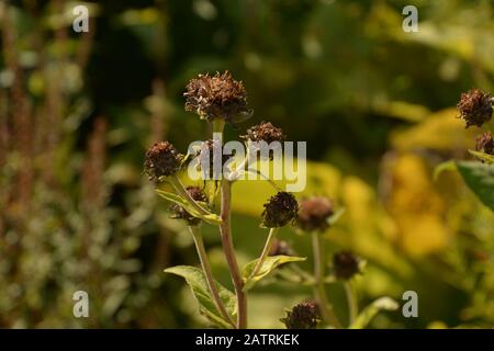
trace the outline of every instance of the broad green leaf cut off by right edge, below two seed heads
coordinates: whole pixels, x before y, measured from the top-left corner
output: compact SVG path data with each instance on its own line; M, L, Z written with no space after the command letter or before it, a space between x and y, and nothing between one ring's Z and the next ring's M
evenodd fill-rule
M494 211L494 165L461 161L457 162L457 167L464 182L479 200Z

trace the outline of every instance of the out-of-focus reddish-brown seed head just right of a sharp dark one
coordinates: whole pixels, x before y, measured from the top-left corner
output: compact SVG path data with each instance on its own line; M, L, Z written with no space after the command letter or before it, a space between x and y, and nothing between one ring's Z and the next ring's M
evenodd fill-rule
M329 227L328 219L334 214L329 199L314 196L302 200L296 216L296 225L304 231L324 231Z

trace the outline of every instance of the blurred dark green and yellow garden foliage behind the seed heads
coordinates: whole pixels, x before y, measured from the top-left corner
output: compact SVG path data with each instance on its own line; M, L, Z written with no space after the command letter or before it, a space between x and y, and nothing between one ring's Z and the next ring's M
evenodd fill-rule
M89 8L88 33L72 31L77 4ZM402 30L407 4L418 33ZM183 110L184 86L228 69L255 114L227 138L270 121L306 140L297 196L346 208L325 238L368 261L360 306L418 293L418 318L398 310L370 327L491 328L494 215L456 172L433 170L473 148L478 131L454 105L472 87L493 92L493 11L490 0L0 1L0 327L203 326L184 282L162 272L199 264L192 239L142 169L156 140L186 151L206 138ZM234 188L242 263L261 250L272 194ZM204 231L231 286L217 230ZM311 256L308 237L280 236ZM268 283L249 293L251 327L281 328L284 307L311 296ZM79 290L89 318L72 315ZM329 290L345 320L344 290Z

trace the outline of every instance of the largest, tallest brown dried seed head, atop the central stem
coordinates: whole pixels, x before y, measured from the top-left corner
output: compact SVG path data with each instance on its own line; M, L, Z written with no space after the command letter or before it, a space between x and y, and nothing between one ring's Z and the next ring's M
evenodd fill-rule
M247 107L244 84L234 80L228 71L213 77L199 75L189 81L186 89L186 111L197 112L207 122L222 118L238 123L252 115L252 111Z

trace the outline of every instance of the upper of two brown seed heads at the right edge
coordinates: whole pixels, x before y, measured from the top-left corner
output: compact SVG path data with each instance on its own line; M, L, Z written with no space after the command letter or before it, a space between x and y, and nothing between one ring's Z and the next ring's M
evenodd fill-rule
M480 89L471 89L461 94L457 104L460 117L467 123L467 128L471 125L482 126L492 117L492 97Z

